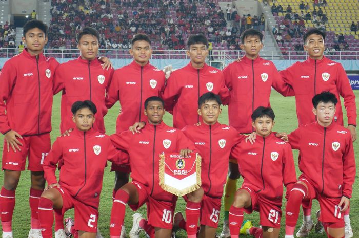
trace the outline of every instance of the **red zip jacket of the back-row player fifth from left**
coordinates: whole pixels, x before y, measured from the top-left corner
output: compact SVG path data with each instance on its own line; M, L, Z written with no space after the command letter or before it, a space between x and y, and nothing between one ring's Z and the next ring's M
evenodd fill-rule
M272 86L281 94L292 94L290 86L283 82L274 63L260 57L252 60L243 56L241 62L230 63L223 74L230 92L229 125L243 134L254 131L251 119L253 111L258 106L270 106Z

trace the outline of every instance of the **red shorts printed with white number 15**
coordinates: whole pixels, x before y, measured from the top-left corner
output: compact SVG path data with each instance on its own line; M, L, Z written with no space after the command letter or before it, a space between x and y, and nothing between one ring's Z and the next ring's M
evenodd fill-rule
M217 228L220 220L221 199L204 194L201 204L200 224Z

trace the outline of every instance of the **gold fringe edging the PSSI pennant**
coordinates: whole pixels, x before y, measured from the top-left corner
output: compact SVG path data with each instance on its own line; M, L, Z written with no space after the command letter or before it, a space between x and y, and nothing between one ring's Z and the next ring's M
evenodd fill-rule
M166 154L169 154L169 153L166 153ZM184 195L186 195L190 192L193 192L201 187L201 185L202 185L202 181L201 181L202 158L201 158L200 154L198 154L198 153L195 154L196 155L195 162L196 162L196 181L197 181L197 183L193 184L183 190L180 190L180 189L172 187L168 184L165 184L165 157L166 157L166 154L163 153L163 154L159 155L159 158L161 158L159 160L159 186L161 186L161 188L163 190L168 191L176 196L184 196Z

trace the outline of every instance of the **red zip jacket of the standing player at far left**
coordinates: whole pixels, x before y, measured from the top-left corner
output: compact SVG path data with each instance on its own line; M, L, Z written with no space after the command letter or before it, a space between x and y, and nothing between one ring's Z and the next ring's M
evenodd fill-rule
M22 136L51 132L52 79L58 62L27 48L5 62L0 72L0 132Z

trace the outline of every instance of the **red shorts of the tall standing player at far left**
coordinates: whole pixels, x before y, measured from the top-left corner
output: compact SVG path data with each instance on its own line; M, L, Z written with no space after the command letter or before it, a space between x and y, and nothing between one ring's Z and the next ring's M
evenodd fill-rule
M43 162L51 149L50 133L41 134L38 136L26 136L23 139L17 138L23 146L19 146L21 151L16 153L10 146L10 151L7 150L7 143L4 139L3 148L3 169L14 171L25 170L26 157L29 159L27 169L30 171L44 171Z

